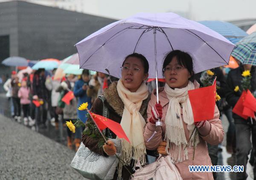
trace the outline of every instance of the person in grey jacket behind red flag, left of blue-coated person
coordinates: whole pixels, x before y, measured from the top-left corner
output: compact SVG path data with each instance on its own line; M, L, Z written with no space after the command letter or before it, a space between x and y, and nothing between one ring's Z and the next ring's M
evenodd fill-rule
M67 79L65 81L61 82L61 85L57 88L57 92L60 92L60 97L59 97L59 103L64 104L63 108L63 120L64 122L66 121L73 121L77 119L77 99L73 98L70 101L70 105L65 104L64 102L61 101L63 96L65 96L70 90L73 91L75 87L75 82L77 78L75 78L75 75L69 74L67 75ZM72 140L72 132L67 128L67 147L70 149L73 149L73 140Z

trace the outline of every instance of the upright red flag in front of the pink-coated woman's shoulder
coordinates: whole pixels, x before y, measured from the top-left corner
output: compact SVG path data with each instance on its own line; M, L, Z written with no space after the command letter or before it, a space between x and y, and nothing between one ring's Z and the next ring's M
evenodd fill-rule
M194 122L213 119L215 109L216 81L212 86L189 90L189 100Z

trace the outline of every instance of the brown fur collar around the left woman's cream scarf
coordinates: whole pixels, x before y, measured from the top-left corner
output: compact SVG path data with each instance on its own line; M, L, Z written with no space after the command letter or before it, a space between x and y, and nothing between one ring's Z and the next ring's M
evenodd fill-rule
M103 96L105 96L108 104L115 110L115 112L122 117L123 110L124 110L124 103L122 102L121 98L118 96L117 93L117 82L113 82L108 89L105 90ZM148 98L142 102L140 107L140 114L143 116L144 119L147 118L147 108L148 102L150 100L150 93L148 93Z

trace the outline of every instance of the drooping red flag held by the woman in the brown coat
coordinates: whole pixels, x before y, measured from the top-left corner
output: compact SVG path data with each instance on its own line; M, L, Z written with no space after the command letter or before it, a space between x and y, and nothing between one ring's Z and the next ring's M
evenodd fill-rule
M125 131L122 129L122 126L119 123L114 122L113 120L105 118L98 114L94 114L89 110L88 112L91 116L93 116L93 120L98 125L100 131L102 131L105 128L109 128L114 134L116 134L116 136L118 136L119 138L124 138L130 143L128 137L125 134Z

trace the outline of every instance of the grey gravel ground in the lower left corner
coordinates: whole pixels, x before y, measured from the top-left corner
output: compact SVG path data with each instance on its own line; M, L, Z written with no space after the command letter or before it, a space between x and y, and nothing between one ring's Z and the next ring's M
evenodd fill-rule
M0 114L0 180L84 179L71 151Z

